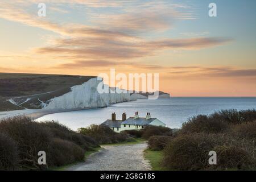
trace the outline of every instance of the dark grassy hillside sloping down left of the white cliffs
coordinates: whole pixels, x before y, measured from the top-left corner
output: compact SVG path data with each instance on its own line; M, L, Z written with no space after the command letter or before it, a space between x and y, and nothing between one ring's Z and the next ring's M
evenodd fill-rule
M72 86L80 85L93 77L0 73L0 111L40 109L42 102L61 96L69 92Z

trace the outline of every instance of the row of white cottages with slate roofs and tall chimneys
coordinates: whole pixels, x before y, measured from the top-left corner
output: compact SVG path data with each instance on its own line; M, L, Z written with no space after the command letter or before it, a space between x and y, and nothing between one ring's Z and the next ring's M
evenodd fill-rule
M108 126L118 133L123 130L141 130L148 125L166 127L166 124L159 119L151 118L150 113L147 113L146 117L139 117L138 112L135 113L134 117L128 119L126 119L126 113L123 113L122 120L117 120L116 114L112 113L112 119L107 119L101 125Z

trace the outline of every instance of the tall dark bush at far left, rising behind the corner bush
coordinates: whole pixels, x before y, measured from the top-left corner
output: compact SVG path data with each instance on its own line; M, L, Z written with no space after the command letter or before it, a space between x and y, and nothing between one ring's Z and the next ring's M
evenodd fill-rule
M39 123L27 117L14 117L0 122L0 131L16 141L19 151L19 166L42 169L38 164L38 152L49 150L51 133L40 127Z

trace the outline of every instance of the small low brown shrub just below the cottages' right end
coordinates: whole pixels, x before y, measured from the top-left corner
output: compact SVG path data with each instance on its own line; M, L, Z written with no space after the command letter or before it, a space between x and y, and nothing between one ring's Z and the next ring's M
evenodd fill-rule
M146 126L143 129L142 137L148 139L154 135L172 136L172 129L162 126Z

